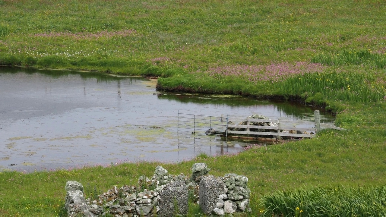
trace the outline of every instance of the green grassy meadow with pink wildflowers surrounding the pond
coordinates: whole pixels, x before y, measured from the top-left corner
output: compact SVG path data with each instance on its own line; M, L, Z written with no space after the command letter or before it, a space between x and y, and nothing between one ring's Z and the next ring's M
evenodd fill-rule
M296 100L336 112L347 129L175 164L2 171L0 216L66 216L67 180L95 197L157 165L189 175L197 162L213 175L246 175L251 216L348 207L347 216L386 215L385 24L383 0L0 0L0 65L159 76L158 90ZM195 205L189 215L201 216Z

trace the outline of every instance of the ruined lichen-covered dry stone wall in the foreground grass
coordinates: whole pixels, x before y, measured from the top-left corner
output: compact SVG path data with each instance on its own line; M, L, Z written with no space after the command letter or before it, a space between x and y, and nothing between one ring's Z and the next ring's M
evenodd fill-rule
M137 186L114 186L98 200L85 200L81 183L67 181L65 208L69 216L169 217L187 214L190 199L206 214L250 212L247 177L226 174L216 178L208 175L205 163L193 164L191 171L190 177L176 176L157 166L151 179L141 176Z

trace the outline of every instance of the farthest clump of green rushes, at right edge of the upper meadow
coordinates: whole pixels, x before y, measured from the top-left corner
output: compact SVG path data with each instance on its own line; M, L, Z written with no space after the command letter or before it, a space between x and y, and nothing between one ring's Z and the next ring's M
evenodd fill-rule
M313 63L329 65L364 64L371 67L384 68L386 66L386 55L373 52L371 49L342 50L334 53L322 53L311 58Z

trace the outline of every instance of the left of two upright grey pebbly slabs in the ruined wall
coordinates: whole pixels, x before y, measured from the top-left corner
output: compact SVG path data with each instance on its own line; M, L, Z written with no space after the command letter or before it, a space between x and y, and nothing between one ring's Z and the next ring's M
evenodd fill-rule
M188 213L188 188L185 181L174 181L167 184L159 196L160 210L158 215L160 217L176 214L186 215Z

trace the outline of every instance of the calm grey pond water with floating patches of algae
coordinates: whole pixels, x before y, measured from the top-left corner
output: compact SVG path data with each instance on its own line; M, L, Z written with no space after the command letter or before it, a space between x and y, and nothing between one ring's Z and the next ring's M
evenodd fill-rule
M243 142L181 136L177 133L178 111L313 119L313 108L288 102L220 95L157 95L156 83L156 79L135 76L0 68L0 170L178 162L200 153L244 150ZM327 122L334 120L327 113L321 117Z

